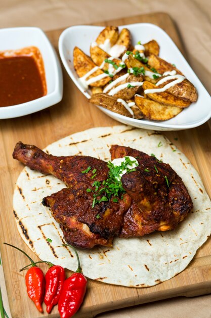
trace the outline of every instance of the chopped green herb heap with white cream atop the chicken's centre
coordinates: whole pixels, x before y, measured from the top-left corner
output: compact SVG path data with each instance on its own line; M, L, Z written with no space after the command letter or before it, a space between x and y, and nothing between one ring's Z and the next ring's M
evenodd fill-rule
M122 172L125 170L126 173L135 171L135 168L129 168L130 166L133 166L133 164L138 166L137 162L132 161L128 156L124 157L124 162L122 162L120 166L114 166L114 164L112 164L110 161L108 162L108 178L103 181L94 181L92 184L92 186L95 187L92 208L94 208L96 204L99 204L103 201L109 201L112 196L123 199L125 190L122 187L120 177ZM95 175L93 175L91 178L93 178ZM99 197L100 199L98 199ZM113 202L118 202L118 199L113 198Z

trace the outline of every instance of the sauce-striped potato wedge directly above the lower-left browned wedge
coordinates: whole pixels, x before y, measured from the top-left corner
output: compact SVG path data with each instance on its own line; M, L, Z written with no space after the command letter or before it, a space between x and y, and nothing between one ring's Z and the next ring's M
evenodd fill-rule
M129 75L126 79L124 79L123 81L120 81L119 83L117 83L117 85L113 86L112 89L108 90L107 93L111 93L111 91L122 84L125 83L131 83L131 82L142 82L143 81L143 77L142 76L135 76L133 74ZM132 85L133 86L133 85ZM115 93L114 95L112 94L112 96L116 99L120 98L124 101L130 100L134 97L134 95L136 94L136 92L138 91L140 86L134 86L134 87L125 87L122 88L121 90L119 90L117 93Z

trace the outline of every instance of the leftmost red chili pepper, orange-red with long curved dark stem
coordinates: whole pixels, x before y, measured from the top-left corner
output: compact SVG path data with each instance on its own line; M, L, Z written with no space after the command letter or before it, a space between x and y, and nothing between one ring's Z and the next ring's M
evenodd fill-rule
M4 244L20 250L30 260L31 268L29 268L25 276L27 293L29 298L34 302L36 308L40 312L43 312L43 308L41 307L45 294L45 277L43 271L36 266L34 261L22 249L8 243Z

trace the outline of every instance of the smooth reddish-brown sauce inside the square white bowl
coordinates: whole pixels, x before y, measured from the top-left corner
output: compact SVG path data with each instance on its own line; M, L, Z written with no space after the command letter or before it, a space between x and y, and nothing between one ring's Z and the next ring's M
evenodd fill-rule
M36 47L0 52L0 74L0 107L47 94L44 62Z

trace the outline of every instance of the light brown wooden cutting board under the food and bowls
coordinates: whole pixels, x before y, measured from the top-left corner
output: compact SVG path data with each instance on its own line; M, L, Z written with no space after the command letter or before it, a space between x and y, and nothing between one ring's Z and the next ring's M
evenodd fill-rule
M184 53L176 27L165 13L139 15L96 23L96 25L122 25L137 22L150 22L160 26ZM47 33L56 49L61 32L62 29ZM63 76L64 96L59 104L35 114L0 121L1 243L5 241L23 248L35 261L38 258L33 255L19 237L13 217L13 189L23 168L20 163L12 158L16 142L21 140L24 143L35 144L44 148L48 144L78 131L95 126L119 124L107 117L97 107L90 105L64 69ZM209 196L211 196L210 130L210 124L205 123L192 130L164 133L186 154L199 171ZM175 141L175 138L178 138L178 140ZM193 261L182 273L151 288L124 288L89 280L85 301L75 317L89 318L111 309L177 296L192 297L211 293L210 250L211 240L208 238L196 253ZM21 267L28 264L26 258L17 250L2 244L1 252L12 317L47 317L46 311L44 314L40 314L27 297L24 273L19 272ZM47 270L45 265L42 268L45 271ZM67 274L69 275L70 272ZM59 317L57 308L54 308L50 317Z

